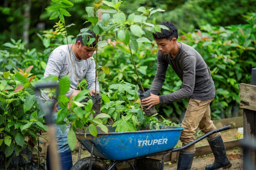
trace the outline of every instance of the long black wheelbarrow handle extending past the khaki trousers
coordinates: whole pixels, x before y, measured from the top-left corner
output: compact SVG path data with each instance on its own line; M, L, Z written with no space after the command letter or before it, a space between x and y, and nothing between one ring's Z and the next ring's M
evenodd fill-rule
M205 133L203 136L200 136L199 138L195 139L193 142L190 142L190 143L188 143L188 144L186 144L186 145L184 145L182 147L173 148L173 149L171 149L171 151L172 152L177 152L179 150L186 149L187 147L191 146L192 144L195 144L195 143L201 141L202 139L212 135L213 133L218 133L218 132L221 132L221 131L224 131L224 130L228 130L228 129L231 129L231 128L232 128L231 125L229 125L229 126L225 126L225 127L221 127L221 128L212 130L212 131L210 131L208 133Z

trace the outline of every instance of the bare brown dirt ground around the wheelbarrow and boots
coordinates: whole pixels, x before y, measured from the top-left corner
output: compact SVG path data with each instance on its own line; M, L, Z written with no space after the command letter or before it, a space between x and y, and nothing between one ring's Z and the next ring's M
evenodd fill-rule
M230 130L225 130L221 132L222 139L224 142L237 139L237 128L232 128ZM200 136L200 135L199 135ZM196 147L207 145L208 142L206 139L196 143ZM180 145L180 142L178 142ZM90 153L87 150L81 150L81 158L90 156ZM235 147L233 149L227 150L227 156L232 163L230 170L243 170L243 150L241 147ZM74 150L72 152L73 164L78 160L78 151ZM207 154L204 156L194 157L191 170L205 170L207 164L212 164L214 161L213 154ZM42 155L42 162L45 162L45 154ZM177 160L172 162L165 162L164 170L176 170L177 169ZM120 169L122 170L122 169ZM127 168L123 170L128 170Z

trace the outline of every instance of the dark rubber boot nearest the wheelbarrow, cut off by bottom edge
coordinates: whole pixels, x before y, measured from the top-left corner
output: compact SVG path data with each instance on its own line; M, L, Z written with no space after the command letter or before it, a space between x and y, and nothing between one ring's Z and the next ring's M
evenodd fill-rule
M180 150L177 170L190 170L195 150Z

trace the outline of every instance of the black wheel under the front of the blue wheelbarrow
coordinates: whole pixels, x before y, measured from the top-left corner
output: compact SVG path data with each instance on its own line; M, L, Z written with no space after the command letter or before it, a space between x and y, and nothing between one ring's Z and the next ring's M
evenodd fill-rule
M71 170L89 170L89 167L90 167L90 157L86 157L77 161L73 165ZM108 165L106 164L105 161L103 161L102 159L93 157L92 170L107 170L107 169L108 169Z

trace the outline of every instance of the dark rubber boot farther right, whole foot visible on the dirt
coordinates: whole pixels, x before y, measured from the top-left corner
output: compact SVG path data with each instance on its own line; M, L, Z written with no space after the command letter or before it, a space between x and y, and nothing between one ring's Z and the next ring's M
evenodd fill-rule
M219 168L228 169L232 166L229 159L227 158L226 148L221 138L221 133L212 138L207 138L209 145L214 155L213 164L209 164L205 167L206 170L218 170Z

